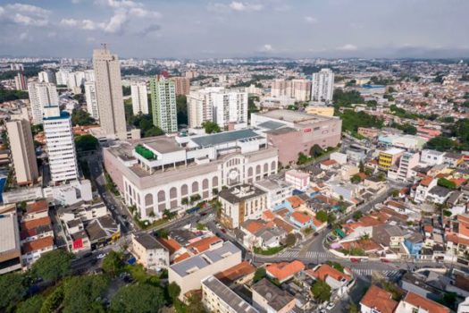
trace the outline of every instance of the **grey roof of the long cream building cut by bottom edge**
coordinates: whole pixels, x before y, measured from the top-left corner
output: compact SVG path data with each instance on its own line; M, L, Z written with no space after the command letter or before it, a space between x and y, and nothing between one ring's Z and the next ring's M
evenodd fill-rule
M226 285L220 282L216 277L209 276L202 281L202 285L214 292L218 298L223 300L228 306L236 312L257 313L247 301L242 300L238 294L230 290Z

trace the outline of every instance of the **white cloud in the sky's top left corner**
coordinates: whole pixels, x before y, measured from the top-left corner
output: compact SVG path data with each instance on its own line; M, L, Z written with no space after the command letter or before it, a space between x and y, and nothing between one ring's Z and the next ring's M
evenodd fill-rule
M50 11L30 4L0 6L0 16L7 21L24 26L42 27L49 23Z

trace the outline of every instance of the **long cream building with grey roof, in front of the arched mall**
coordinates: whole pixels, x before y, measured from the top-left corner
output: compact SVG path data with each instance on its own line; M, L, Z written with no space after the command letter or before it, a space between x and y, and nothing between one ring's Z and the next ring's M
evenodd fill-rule
M170 266L168 280L180 285L180 298L183 299L186 292L200 289L205 277L236 266L241 261L241 250L226 241L221 248L206 250Z

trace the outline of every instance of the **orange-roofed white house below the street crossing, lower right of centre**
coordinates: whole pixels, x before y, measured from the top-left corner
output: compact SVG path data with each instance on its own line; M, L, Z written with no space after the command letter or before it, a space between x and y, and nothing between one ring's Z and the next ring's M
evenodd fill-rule
M322 264L315 266L313 269L308 269L306 270L306 275L327 283L331 287L332 292L336 293L339 297L347 294L353 282L352 275L342 273L328 264Z

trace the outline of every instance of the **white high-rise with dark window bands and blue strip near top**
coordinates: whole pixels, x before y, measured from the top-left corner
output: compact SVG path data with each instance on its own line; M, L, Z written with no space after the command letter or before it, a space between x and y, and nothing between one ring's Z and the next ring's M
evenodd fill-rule
M44 134L52 182L78 179L77 153L70 114L61 112L59 106L46 106Z

